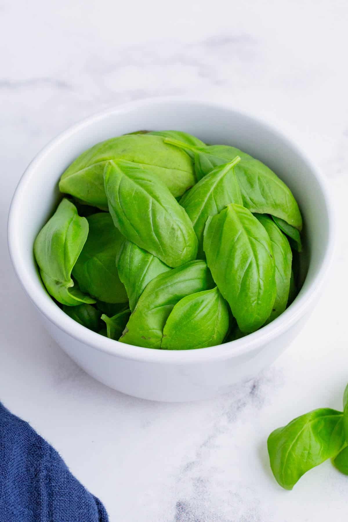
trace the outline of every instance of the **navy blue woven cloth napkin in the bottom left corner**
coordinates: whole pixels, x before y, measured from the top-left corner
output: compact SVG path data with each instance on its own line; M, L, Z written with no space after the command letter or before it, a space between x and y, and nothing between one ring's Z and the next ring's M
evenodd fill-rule
M107 522L55 449L0 403L0 522Z

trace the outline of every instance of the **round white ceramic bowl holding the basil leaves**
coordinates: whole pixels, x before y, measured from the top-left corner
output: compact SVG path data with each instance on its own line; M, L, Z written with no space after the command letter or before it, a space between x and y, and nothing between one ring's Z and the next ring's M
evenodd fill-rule
M59 197L59 176L83 150L139 129L179 129L206 143L234 145L265 162L289 185L305 223L306 277L291 306L243 339L200 350L129 346L79 325L44 290L33 258L35 236ZM30 163L11 204L8 244L23 289L52 337L87 373L123 393L159 401L205 399L253 378L295 338L318 299L333 250L332 210L317 168L277 129L223 105L149 99L96 114L53 139Z

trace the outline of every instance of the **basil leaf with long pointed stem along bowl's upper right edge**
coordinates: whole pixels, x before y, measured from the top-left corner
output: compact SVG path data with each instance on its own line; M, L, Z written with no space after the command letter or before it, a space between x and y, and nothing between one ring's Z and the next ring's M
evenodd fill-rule
M195 147L171 138L166 138L165 143L194 153L197 180L217 165L232 161L239 156L241 161L234 171L241 188L243 205L251 212L271 214L282 218L299 230L302 229L301 212L290 188L261 161L227 145Z

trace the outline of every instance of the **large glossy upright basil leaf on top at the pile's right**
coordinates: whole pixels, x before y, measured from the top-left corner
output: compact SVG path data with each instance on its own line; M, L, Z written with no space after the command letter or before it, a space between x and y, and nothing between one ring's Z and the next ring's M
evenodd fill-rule
M265 228L248 209L231 204L208 218L203 247L239 328L244 333L260 328L276 295L275 262Z

